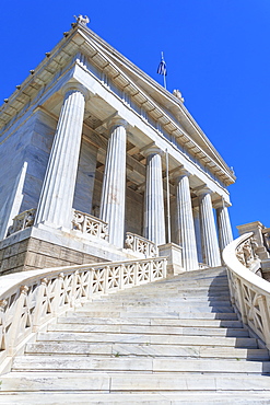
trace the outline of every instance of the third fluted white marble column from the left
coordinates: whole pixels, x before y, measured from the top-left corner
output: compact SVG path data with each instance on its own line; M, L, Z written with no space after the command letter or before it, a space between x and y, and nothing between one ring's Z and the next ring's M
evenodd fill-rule
M162 153L162 150L155 146L144 151L146 155L146 180L143 235L156 243L157 246L166 243Z

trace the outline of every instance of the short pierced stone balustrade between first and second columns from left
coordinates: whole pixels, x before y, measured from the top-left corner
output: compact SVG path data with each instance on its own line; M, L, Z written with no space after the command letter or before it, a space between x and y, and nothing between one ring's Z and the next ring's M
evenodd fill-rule
M108 240L108 224L103 220L84 213L73 211L72 229L95 238Z

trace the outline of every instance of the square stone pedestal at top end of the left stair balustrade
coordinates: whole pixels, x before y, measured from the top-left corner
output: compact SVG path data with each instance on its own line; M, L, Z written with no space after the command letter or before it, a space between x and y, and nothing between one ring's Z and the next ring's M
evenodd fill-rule
M166 243L159 246L159 256L167 257L167 274L178 275L185 271L183 267L181 246Z

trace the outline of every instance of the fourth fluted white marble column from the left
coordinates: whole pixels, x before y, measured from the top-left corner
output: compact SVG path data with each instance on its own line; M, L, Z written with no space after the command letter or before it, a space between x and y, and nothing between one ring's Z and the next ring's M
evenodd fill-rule
M192 205L189 187L189 173L179 169L174 174L176 180L177 243L183 247L183 267L186 270L199 268Z

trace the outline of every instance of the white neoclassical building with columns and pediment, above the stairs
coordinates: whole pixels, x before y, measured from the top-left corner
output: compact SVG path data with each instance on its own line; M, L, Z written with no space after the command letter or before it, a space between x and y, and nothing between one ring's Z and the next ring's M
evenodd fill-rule
M232 170L184 105L78 19L0 109L0 273L167 255L219 266Z

